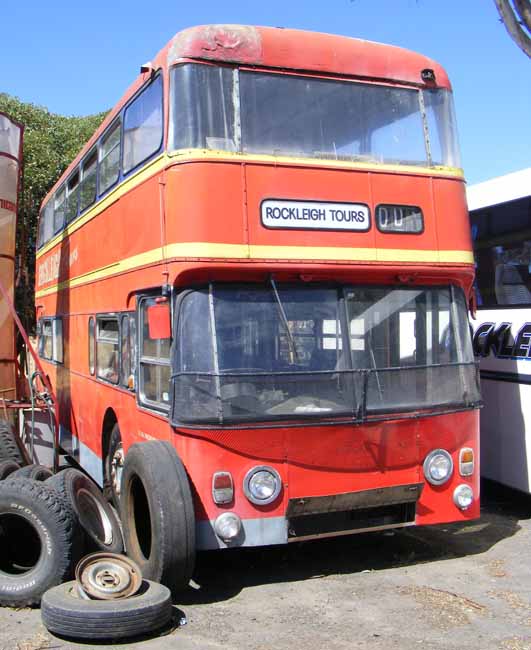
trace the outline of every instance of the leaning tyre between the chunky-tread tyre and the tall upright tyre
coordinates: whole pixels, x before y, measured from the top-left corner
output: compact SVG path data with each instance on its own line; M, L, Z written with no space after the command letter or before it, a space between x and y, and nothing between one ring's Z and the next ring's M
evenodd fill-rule
M92 479L80 470L69 467L49 478L46 485L71 504L77 521L88 537L87 551L95 548L109 553L123 552L118 517Z

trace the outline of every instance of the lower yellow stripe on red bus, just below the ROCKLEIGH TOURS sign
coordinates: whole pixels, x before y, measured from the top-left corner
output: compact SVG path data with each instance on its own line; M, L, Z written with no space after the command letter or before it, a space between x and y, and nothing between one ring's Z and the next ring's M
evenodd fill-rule
M343 248L332 246L247 246L217 242L182 242L168 244L145 253L120 260L89 271L75 278L54 284L35 293L36 298L56 291L78 287L89 282L110 278L120 273L134 271L143 266L171 259L237 259L249 261L327 261L327 262L413 262L435 264L473 264L471 251L418 250L387 248Z

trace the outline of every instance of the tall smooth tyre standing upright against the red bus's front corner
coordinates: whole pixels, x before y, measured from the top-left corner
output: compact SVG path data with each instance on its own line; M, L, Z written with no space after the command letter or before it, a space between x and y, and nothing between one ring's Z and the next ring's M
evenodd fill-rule
M120 498L127 554L142 575L173 592L187 587L195 561L195 516L184 465L168 442L134 444Z

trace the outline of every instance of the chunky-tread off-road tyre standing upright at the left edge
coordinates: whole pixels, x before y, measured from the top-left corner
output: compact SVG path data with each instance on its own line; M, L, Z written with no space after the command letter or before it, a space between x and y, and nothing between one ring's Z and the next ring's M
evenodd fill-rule
M41 482L0 483L0 605L38 605L45 591L68 579L74 523L63 500Z

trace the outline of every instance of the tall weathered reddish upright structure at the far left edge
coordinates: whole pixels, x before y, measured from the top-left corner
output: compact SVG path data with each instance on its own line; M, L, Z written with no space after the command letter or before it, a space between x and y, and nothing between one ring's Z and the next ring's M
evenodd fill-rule
M0 281L12 301L23 127L0 113ZM15 323L0 294L0 399L16 398Z

